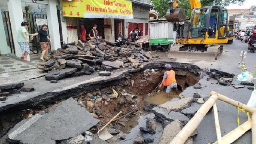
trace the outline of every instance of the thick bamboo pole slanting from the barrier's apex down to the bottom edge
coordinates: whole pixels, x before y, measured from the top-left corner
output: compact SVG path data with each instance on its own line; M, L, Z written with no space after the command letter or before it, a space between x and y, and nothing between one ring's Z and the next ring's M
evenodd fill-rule
M218 99L216 94L213 94L196 112L191 120L180 130L180 132L172 139L170 144L184 144L190 137L193 131L198 127L204 116Z

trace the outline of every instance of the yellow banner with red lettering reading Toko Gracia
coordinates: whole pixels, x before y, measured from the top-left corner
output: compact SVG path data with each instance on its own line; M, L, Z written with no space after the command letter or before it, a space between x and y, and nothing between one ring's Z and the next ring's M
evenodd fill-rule
M132 2L126 0L62 0L64 17L133 18Z

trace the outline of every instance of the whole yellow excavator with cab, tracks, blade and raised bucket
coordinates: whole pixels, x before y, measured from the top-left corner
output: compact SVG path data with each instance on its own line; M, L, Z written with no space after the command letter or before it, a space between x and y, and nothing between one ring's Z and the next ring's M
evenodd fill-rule
M189 26L184 26L183 35L176 37L176 45L169 50L168 58L215 61L228 42L229 28L227 9L222 6L201 6L200 0L189 0L192 9ZM179 8L179 0L169 1L166 13L169 22L185 22L186 16Z

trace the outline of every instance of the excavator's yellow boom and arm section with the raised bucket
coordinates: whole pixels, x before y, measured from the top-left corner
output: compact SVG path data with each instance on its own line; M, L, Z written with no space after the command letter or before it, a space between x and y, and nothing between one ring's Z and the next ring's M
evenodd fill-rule
M183 22L186 20L185 12L182 8L179 8L180 0L170 0L170 9L166 13L166 20L169 22ZM191 9L201 7L200 0L189 0Z

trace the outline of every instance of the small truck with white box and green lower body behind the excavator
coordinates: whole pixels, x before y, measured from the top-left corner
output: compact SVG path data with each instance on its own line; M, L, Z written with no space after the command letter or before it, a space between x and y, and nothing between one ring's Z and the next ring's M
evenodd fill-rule
M175 43L176 31L173 31L173 23L166 19L150 20L150 49L170 50Z

